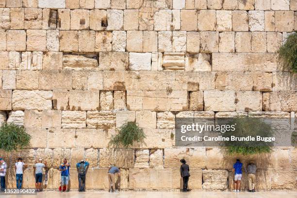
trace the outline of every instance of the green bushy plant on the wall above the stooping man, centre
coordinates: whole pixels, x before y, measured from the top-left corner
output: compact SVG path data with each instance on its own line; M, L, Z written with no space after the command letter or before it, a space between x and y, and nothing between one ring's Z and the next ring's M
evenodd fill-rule
M127 122L120 127L118 134L113 135L109 142L109 147L123 146L125 148L133 145L134 142L143 142L146 138L143 130L135 122Z

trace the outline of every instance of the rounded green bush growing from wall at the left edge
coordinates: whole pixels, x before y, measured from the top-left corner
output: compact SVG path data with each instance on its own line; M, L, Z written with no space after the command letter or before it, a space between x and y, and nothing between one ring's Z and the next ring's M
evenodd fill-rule
M3 122L0 127L0 150L17 151L30 146L31 135L22 126Z

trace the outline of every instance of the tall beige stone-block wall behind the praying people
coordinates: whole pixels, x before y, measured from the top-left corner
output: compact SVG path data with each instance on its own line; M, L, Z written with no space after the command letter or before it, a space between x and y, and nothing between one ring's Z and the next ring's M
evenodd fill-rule
M64 157L90 162L87 188L108 188L107 167L122 170L121 189L179 189L179 160L190 189L230 189L232 163L256 161L257 189L297 189L297 149L224 156L220 148L175 147L175 118L237 115L291 119L297 130L297 75L277 50L297 30L297 0L0 0L0 122L24 125L31 147L0 153L49 163L59 185ZM237 112L237 113L235 113ZM221 114L221 115L220 115ZM123 123L144 129L144 144L107 148ZM244 175L243 189L247 188Z

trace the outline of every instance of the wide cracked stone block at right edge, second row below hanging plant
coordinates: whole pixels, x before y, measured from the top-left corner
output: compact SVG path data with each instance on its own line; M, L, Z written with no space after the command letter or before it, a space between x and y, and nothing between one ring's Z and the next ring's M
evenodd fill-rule
M263 93L264 111L297 111L297 94L292 91Z

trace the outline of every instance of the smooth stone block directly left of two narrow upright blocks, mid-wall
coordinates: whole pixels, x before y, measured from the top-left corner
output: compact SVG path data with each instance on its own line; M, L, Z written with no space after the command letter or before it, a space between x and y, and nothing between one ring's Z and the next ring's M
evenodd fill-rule
M99 91L97 90L70 90L69 92L70 110L98 110Z

